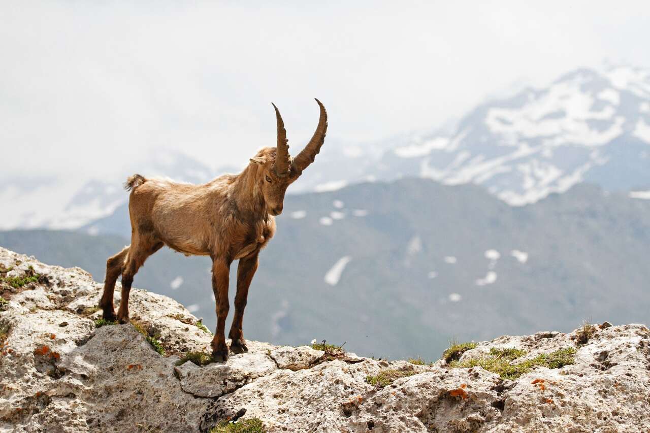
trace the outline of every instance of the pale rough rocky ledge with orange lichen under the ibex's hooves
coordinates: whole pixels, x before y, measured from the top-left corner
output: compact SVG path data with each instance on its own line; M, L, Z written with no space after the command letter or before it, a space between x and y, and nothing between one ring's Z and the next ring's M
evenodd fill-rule
M254 341L209 363L212 335L174 300L133 289L132 323L103 324L100 292L82 269L0 248L0 431L650 430L640 324L503 336L432 365Z

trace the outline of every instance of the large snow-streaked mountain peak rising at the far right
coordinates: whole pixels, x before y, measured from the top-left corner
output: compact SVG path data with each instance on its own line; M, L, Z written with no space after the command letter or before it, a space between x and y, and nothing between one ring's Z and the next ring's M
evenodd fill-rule
M581 181L650 185L650 71L580 69L469 112L449 136L414 137L383 161L408 176L473 182L525 205Z

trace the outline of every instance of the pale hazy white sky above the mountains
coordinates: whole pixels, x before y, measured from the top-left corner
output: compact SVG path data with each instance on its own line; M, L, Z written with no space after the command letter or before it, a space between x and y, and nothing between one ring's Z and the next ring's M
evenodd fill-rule
M271 101L294 150L314 97L328 137L367 141L433 129L513 82L650 66L647 1L16 0L0 17L5 180L107 174L155 146L240 165L275 142Z

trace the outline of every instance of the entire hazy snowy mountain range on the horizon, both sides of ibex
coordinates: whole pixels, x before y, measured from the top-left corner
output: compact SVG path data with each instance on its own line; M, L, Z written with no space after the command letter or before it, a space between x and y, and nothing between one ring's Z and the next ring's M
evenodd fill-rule
M201 183L238 171L214 170L178 151L157 150L111 179L81 186L60 179L15 179L0 190L0 200L14 205L12 213L0 215L0 230L88 226L127 201L120 185L134 172ZM630 196L645 198L650 190L650 71L582 68L545 88L491 99L453 127L365 144L328 138L318 163L289 193L417 176L448 185L475 183L510 205L534 203L582 181L606 190L639 191Z

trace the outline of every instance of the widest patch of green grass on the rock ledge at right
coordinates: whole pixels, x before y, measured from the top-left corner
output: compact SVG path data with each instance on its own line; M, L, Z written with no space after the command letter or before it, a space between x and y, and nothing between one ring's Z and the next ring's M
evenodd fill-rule
M532 360L512 364L511 361L526 354L525 350L516 348L497 349L491 348L488 356L472 358L463 362L452 361L450 368L482 367L487 371L499 374L502 379L515 380L522 374L529 373L537 367L559 369L565 365L573 364L575 348L563 348L549 354L539 354Z

